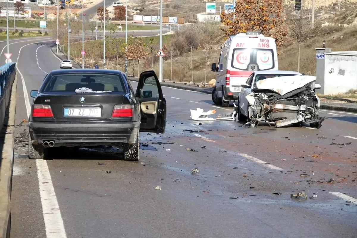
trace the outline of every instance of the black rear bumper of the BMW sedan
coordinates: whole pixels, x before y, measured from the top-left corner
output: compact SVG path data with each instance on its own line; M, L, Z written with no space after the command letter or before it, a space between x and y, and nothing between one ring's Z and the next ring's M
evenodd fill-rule
M127 123L41 123L29 122L32 144L54 141L62 145L109 145L135 143L140 122Z

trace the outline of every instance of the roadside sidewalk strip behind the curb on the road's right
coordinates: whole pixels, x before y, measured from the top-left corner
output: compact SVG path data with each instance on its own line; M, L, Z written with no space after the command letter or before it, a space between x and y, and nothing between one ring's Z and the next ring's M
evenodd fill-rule
M139 81L137 78L133 78L133 77L128 77L128 79L136 82ZM172 83L172 82L161 82L160 84L161 86L165 86L165 87L172 87L172 88L202 92L207 94L212 93L212 87L198 87L195 85L186 85L183 83ZM326 99L322 97L320 99L321 99L320 109L357 113L357 101L354 100L346 101L342 98Z

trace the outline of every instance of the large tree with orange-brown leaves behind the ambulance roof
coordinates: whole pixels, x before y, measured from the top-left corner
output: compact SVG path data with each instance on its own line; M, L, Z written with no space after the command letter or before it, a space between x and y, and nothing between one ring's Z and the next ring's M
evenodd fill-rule
M230 35L247 31L260 31L264 36L275 38L276 45L282 46L287 38L282 0L240 0L236 1L233 12L221 13L221 30L225 39Z

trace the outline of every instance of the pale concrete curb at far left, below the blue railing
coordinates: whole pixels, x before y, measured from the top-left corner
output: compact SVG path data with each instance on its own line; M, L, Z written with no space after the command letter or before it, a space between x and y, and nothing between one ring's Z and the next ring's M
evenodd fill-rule
M10 236L10 201L12 186L12 166L14 164L15 111L16 111L17 74L11 87L9 121L4 136L0 168L0 238Z

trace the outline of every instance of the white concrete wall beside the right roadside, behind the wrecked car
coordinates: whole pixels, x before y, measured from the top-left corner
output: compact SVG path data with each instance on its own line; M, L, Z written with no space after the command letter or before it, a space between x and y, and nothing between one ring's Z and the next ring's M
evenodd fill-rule
M357 89L357 51L325 54L325 88L323 94L344 93Z

